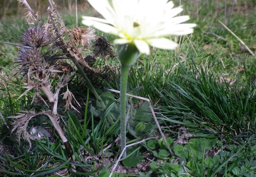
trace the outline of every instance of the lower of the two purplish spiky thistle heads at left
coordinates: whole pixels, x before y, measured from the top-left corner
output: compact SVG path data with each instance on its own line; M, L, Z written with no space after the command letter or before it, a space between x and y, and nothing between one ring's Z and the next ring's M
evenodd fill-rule
M22 48L19 54L17 61L20 65L31 65L42 58L40 48Z

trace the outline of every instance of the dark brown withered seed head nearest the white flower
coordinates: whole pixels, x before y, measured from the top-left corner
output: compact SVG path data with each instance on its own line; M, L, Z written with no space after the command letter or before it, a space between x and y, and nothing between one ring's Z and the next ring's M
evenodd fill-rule
M101 56L101 58L104 58L114 56L114 51L108 40L103 36L99 36L95 40L93 54L95 57Z

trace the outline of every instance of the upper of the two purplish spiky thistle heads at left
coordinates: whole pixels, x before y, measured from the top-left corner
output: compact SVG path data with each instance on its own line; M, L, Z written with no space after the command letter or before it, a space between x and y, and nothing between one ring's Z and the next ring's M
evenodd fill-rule
M33 26L27 29L22 38L22 44L31 47L44 47L51 41L51 36L44 29Z

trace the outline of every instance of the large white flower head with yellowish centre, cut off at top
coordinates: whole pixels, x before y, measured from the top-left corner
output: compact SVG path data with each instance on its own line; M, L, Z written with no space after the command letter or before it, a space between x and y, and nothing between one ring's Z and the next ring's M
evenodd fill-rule
M83 16L82 23L119 36L114 43L134 43L140 53L149 54L149 45L175 49L166 38L193 33L196 24L181 24L189 16L177 16L183 9L168 0L87 0L105 19Z

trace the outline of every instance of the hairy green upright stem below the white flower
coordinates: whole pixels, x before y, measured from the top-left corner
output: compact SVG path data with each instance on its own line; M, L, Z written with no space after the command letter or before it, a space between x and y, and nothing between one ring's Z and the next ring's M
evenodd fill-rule
M120 122L121 122L121 152L126 145L126 91L129 76L129 69L131 65L122 64L120 76ZM126 156L124 151L123 157Z

